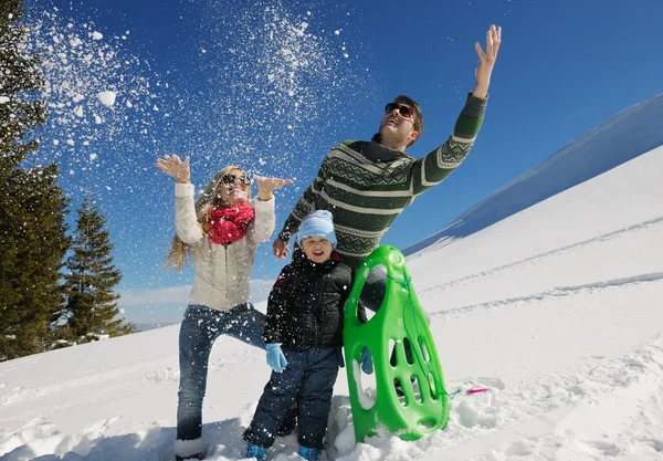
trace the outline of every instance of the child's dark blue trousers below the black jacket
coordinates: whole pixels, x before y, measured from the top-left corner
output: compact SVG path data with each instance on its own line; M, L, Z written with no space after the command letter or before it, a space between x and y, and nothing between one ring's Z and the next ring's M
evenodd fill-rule
M284 348L283 354L287 366L283 373L272 371L244 440L259 447L271 447L296 399L299 444L323 448L332 392L340 368L340 349Z

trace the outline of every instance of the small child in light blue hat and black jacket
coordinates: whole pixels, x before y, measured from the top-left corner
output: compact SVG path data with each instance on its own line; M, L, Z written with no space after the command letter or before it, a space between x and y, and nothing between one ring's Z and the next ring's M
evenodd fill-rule
M340 261L329 211L309 213L297 233L302 251L281 271L267 301L263 337L274 370L244 432L246 458L265 459L297 399L299 455L318 459L343 363L343 307L352 275Z

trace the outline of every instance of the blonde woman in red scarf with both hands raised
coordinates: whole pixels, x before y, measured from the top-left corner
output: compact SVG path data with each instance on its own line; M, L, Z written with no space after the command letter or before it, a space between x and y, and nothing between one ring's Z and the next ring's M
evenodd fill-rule
M180 387L177 410L177 460L203 459L202 399L210 352L222 334L265 347L264 314L249 302L249 276L259 243L274 230L274 196L291 179L255 177L257 196L251 203L251 180L239 167L217 172L193 202L189 157L159 158L156 164L175 185L175 224L168 265L181 271L187 256L196 265L189 306L179 335Z

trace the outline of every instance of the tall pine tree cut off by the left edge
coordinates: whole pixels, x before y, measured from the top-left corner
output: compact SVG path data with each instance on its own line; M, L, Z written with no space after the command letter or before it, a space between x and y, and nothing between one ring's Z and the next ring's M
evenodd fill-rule
M25 166L46 112L39 56L24 51L23 13L22 0L0 2L0 360L45 347L69 248L57 167Z

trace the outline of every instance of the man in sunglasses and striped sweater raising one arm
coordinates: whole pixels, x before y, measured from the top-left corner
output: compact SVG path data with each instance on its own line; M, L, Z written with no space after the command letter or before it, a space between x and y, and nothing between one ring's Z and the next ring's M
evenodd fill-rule
M404 154L423 132L419 104L407 96L398 96L387 104L379 133L370 142L336 145L286 219L273 243L274 255L286 258L291 235L297 232L308 212L328 210L334 214L337 251L344 262L357 270L406 207L440 184L467 156L483 122L501 39L502 29L491 25L486 51L475 43L480 60L476 84L453 135L435 150L421 158ZM366 307L376 311L383 293L385 274L373 273L376 271L367 280L361 298Z

